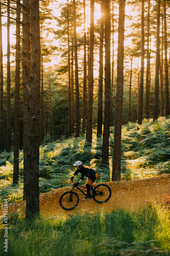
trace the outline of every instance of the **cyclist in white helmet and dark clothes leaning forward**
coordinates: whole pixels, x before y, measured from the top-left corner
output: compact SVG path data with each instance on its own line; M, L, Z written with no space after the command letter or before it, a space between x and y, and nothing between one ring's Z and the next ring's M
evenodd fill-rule
M87 188L87 196L83 199L90 199L90 189L92 188L93 182L98 177L98 173L95 172L94 169L90 168L89 166L82 165L81 161L77 161L73 164L76 166L76 172L74 173L74 176L71 177L71 181L73 181L74 177L78 175L78 173L81 173L80 181L76 183L76 185L79 185L81 181L84 179L84 176L88 177L88 182L86 184Z

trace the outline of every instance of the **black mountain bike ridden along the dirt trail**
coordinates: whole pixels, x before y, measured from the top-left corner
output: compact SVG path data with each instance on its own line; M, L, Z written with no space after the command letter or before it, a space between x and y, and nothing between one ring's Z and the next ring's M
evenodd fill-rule
M78 203L79 203L79 196L78 194L74 191L75 188L78 188L82 194L87 196L87 194L84 193L84 191L80 187L81 185L76 185L76 182L74 182L74 185L72 186L70 191L66 191L64 194L61 195L60 197L60 206L64 210L72 210L74 209ZM97 202L97 203L106 203L110 198L111 198L111 189L108 185L106 184L98 184L95 187L92 186L91 188L92 193L91 196L92 199Z

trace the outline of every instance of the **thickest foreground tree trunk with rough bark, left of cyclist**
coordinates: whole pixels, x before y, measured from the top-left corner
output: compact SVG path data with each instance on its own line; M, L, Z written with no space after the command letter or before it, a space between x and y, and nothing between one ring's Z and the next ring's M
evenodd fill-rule
M26 0L25 0L26 1ZM40 134L40 71L41 48L39 27L39 1L30 1L31 70L29 91L29 123L25 123L25 190L26 219L39 217L39 134Z

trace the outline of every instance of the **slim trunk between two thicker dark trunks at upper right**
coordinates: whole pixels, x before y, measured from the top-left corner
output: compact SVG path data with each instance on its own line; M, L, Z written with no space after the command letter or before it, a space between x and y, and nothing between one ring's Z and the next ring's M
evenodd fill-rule
M149 119L149 73L150 73L150 0L148 0L148 15L147 15L147 75L146 75L146 95L145 95L145 118Z

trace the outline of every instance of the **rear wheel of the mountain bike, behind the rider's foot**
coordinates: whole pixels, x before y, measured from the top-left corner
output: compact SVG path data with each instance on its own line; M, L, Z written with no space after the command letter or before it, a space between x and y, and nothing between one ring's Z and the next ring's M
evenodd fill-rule
M97 203L106 203L111 195L112 191L106 184L96 185L92 191L92 199Z

